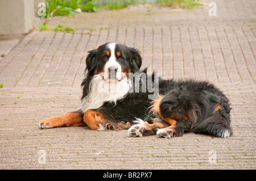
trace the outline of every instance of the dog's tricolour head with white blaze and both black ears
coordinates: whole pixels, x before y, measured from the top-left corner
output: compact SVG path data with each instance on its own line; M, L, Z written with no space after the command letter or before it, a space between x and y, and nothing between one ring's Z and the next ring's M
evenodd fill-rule
M88 75L100 74L104 80L122 81L129 73L139 71L142 65L140 52L118 43L106 43L90 50L86 57Z

